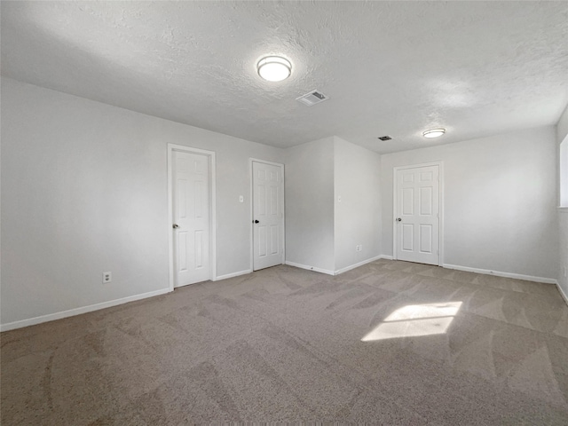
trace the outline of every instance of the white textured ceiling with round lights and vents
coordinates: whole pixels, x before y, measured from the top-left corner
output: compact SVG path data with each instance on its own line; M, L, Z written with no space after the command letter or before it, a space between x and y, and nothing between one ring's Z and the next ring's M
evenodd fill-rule
M261 80L266 54L292 76ZM272 146L387 153L554 124L568 3L3 1L2 74ZM329 100L295 100L314 89Z

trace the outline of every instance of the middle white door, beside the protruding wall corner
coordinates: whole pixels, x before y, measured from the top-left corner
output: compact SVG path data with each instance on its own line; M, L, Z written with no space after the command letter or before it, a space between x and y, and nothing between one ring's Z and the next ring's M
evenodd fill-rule
M284 263L284 170L252 162L253 269Z

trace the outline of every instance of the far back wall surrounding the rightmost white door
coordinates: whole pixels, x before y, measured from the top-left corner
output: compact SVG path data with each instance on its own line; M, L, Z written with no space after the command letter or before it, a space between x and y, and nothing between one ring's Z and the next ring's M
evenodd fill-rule
M384 255L392 255L393 168L435 161L444 162L445 264L556 278L553 127L383 155Z

